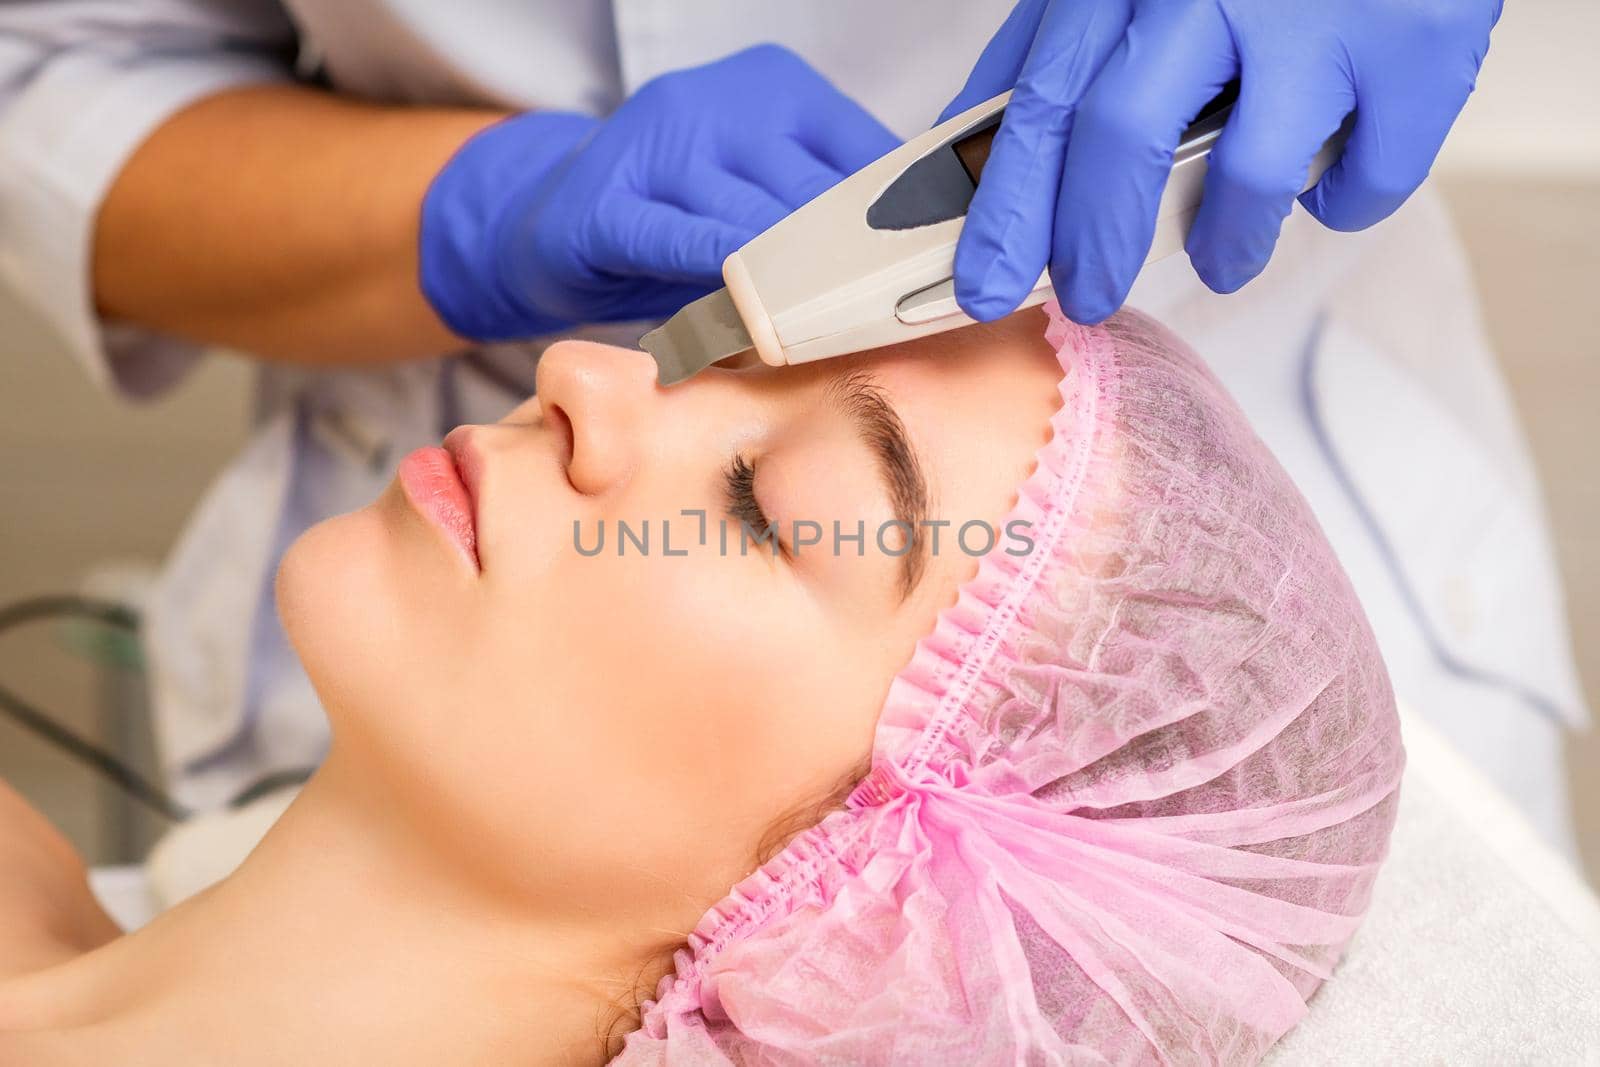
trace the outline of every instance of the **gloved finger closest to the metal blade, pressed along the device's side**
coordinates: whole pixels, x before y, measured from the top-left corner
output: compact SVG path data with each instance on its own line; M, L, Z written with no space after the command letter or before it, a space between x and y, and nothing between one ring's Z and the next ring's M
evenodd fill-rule
M1074 114L1130 16L1126 0L1046 6L955 246L955 299L973 318L1008 315L1043 274Z

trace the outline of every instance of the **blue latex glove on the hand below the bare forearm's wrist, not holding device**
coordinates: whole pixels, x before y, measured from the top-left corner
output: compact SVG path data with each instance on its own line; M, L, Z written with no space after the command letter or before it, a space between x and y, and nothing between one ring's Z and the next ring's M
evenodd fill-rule
M662 318L718 288L728 253L898 144L774 45L662 75L603 122L515 115L429 187L422 293L478 341Z

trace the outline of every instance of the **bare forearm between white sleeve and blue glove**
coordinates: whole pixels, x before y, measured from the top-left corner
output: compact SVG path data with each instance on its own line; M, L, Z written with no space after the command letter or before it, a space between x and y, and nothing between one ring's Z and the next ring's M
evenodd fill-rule
M456 349L418 288L418 218L438 168L499 117L301 86L203 99L160 126L107 194L96 304L298 363Z

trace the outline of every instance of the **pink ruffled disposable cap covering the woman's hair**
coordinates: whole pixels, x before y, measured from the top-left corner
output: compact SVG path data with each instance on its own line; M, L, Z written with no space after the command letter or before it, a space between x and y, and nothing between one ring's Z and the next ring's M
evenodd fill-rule
M874 769L696 926L626 1064L1248 1062L1368 905L1403 752L1299 493L1173 334L1050 309L1051 440Z

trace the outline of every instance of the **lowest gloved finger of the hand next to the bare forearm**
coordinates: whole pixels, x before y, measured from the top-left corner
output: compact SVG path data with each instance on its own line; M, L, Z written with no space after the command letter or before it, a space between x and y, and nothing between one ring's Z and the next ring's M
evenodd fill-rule
M755 230L658 200L618 197L594 216L595 270L706 288L722 285L722 261Z

